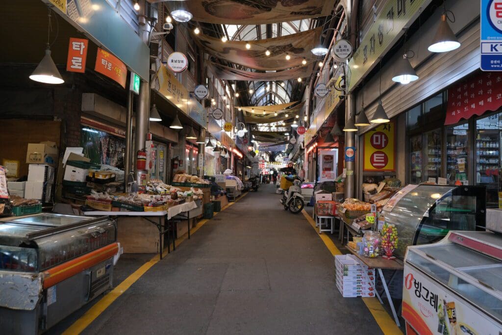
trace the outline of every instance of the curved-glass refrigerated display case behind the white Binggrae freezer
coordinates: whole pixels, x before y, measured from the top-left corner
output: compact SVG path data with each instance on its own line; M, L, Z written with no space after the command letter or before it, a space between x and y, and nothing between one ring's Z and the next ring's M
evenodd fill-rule
M408 246L440 241L450 230L483 230L484 186L408 185L383 208L385 221L396 226L394 255L403 259Z

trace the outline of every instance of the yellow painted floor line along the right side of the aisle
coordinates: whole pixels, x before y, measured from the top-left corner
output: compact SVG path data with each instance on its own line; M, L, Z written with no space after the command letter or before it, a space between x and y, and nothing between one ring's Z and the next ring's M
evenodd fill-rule
M312 218L312 216L309 215L305 211L305 209L302 210L303 216L307 219L309 222L310 226L319 233L319 228L315 226L315 221ZM322 242L326 245L326 247L329 249L331 252L331 255L342 255L340 250L336 248L335 244L331 240L329 236L326 234L319 234L319 237L321 238ZM376 323L380 326L380 329L384 332L384 334L402 334L403 332L401 329L396 325L396 322L394 322L394 319L389 315L389 313L385 310L384 306L376 299L374 298L361 298L366 307L369 309L369 312L373 317L375 318Z

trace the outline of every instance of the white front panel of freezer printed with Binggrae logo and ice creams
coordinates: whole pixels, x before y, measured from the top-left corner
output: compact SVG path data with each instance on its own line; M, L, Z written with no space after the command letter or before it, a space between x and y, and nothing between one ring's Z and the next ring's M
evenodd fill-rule
M502 329L459 296L405 265L403 317L421 335L498 335Z

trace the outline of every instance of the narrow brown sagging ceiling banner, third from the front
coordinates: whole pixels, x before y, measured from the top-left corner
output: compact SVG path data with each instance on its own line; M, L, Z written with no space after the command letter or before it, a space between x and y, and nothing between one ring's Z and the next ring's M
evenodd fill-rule
M214 62L209 62L208 67L215 77L222 80L277 81L310 77L312 73L312 66L310 64L307 63L307 65L297 66L289 70L267 73L238 70Z

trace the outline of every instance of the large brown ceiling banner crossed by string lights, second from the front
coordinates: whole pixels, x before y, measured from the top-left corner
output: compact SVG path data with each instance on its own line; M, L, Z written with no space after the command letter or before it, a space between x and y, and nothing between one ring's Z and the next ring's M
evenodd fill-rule
M242 65L257 70L285 70L302 65L303 57L312 58L311 49L319 44L322 27L307 30L298 34L286 35L258 41L227 41L199 35L198 40L207 53L218 59ZM246 43L251 48L246 49ZM270 51L270 56L265 51ZM289 53L291 59L286 61L285 54Z

